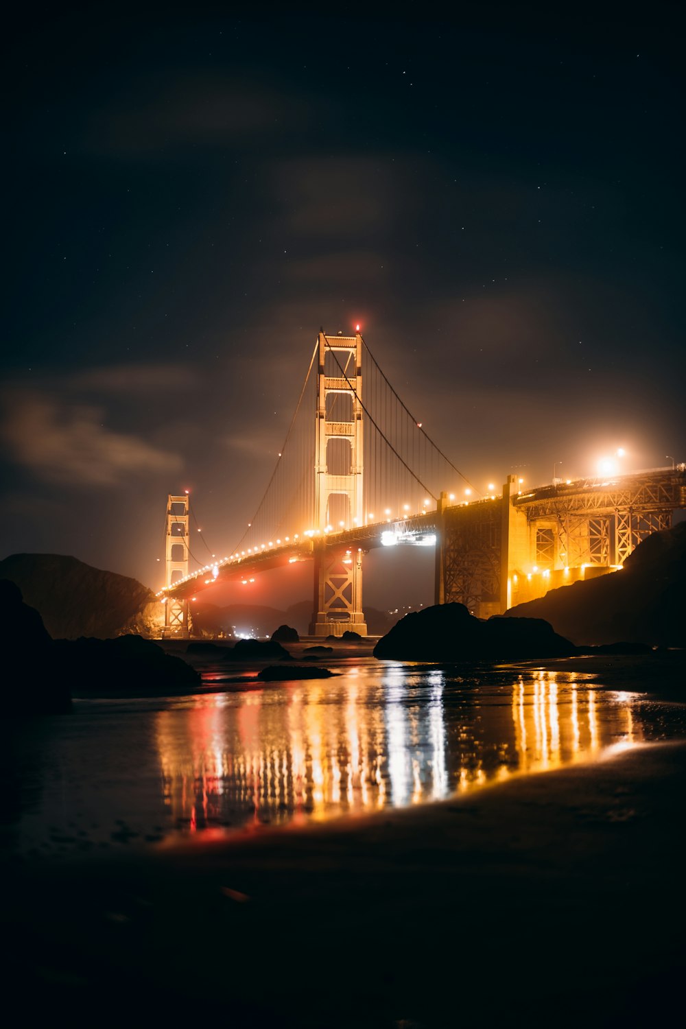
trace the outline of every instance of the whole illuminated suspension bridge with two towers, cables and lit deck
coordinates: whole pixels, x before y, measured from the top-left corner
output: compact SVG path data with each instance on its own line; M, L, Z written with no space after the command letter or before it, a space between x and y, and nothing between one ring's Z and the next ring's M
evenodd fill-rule
M191 572L189 496L168 497L157 595L165 635L187 635L188 600L200 591L300 561L313 563L311 635L366 635L362 566L375 546L433 547L435 603L459 601L488 617L621 568L679 507L683 466L526 493L510 475L482 495L429 437L359 330L322 329L272 477L230 553Z

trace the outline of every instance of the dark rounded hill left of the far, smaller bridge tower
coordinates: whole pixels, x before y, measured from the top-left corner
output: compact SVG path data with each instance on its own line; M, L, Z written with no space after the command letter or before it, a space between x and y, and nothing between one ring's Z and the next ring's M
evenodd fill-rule
M16 583L52 639L141 632L137 619L148 605L157 606L137 579L59 554L12 554L0 561L0 578Z

